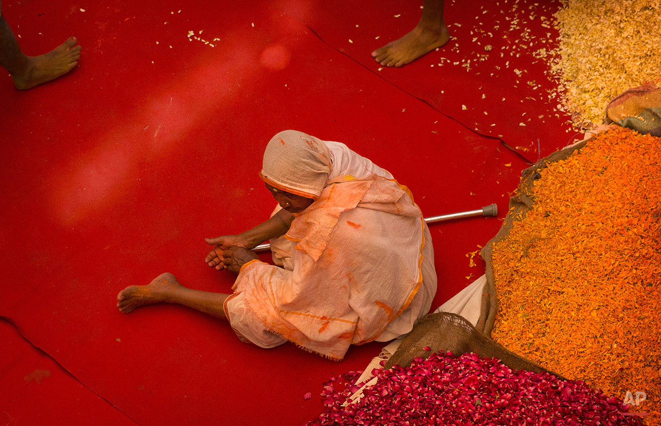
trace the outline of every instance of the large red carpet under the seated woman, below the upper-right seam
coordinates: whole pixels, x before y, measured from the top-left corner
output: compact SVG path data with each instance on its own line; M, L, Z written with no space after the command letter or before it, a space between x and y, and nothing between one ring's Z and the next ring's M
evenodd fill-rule
M204 237L270 213L257 173L282 129L347 143L407 184L427 216L490 203L504 216L525 160L323 42L303 12L325 14L305 1L3 1L26 53L74 34L83 57L28 92L0 81L0 316L26 339L3 322L0 424L89 425L97 413L112 425L297 425L321 412L325 380L377 355L370 343L336 363L241 343L180 306L116 309L118 291L163 271L230 291L233 276L202 262ZM483 273L466 254L499 227L432 225L433 308Z

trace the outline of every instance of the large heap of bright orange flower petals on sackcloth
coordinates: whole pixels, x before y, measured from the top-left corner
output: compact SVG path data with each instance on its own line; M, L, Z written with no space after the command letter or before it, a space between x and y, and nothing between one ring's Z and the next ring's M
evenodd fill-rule
M492 337L607 395L644 392L630 411L658 425L661 139L614 129L537 173L513 197L532 205L492 246Z

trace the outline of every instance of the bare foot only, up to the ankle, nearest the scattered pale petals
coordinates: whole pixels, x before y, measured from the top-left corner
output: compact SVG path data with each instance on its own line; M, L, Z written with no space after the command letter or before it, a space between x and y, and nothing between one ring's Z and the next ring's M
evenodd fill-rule
M438 30L417 25L402 38L372 52L372 57L384 67L399 68L444 46L449 39L450 33L445 24Z

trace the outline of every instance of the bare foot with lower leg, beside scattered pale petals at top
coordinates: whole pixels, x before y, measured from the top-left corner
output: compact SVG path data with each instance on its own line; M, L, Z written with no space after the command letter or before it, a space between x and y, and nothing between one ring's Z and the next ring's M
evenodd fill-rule
M371 53L384 67L399 68L449 41L443 16L444 0L424 0L420 22L405 36Z

